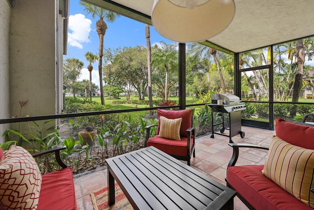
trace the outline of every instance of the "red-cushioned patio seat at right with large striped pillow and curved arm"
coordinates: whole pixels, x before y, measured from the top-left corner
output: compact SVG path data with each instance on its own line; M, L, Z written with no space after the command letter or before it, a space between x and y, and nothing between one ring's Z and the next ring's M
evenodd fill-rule
M275 122L276 136L271 140L264 165L235 166L235 163L239 148L268 148L229 144L233 156L227 169L227 186L237 192L249 209L313 210L314 127L283 119Z

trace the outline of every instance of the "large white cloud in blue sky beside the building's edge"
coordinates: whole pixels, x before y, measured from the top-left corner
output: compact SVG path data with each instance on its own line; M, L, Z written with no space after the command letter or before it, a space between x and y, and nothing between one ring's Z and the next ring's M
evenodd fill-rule
M73 47L83 48L83 43L90 42L89 32L92 21L82 14L69 16L68 44Z

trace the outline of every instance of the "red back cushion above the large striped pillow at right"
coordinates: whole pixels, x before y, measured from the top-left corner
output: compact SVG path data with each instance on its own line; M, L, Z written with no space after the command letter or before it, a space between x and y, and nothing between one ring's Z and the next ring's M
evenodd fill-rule
M314 150L314 127L288 122L281 118L275 120L276 136L291 145Z

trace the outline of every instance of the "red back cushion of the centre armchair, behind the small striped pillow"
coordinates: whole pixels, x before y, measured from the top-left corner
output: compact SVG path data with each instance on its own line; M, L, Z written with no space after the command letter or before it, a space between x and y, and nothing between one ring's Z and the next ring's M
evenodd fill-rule
M160 116L163 116L168 119L178 119L182 118L180 135L187 137L186 129L192 127L192 115L193 109L184 109L184 110L165 110L165 109L157 109L157 117L158 117L158 128L156 134L159 134L160 130Z

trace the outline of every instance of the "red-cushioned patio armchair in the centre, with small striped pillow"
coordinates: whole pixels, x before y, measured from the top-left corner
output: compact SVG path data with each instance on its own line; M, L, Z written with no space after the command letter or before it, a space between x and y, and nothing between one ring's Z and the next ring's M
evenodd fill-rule
M145 147L154 146L190 165L191 155L195 157L195 128L192 127L193 109L157 109L158 127L156 135L150 138L150 128L146 126Z

